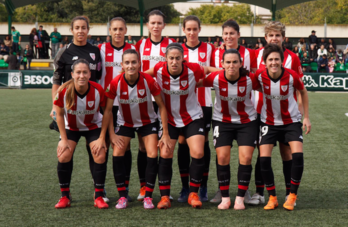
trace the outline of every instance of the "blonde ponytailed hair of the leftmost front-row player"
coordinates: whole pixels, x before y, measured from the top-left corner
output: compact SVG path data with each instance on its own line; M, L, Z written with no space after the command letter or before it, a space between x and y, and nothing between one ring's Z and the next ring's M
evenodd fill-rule
M80 64L80 63L87 65L88 70L90 70L88 61L86 61L85 59L79 59L72 64L72 66L71 66L72 72L74 72L75 66L77 64ZM73 78L71 78L69 81L65 82L62 86L60 86L57 93L58 94L61 93L65 88L66 88L66 95L65 95L66 106L65 106L65 108L67 110L70 110L75 104L75 81Z

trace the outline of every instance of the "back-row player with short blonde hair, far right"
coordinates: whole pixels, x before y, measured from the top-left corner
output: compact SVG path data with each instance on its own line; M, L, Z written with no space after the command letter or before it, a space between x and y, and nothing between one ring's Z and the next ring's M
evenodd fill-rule
M294 70L300 77L303 77L301 61L292 51L288 49L283 49L282 43L285 39L285 26L278 21L270 21L265 26L265 39L268 44L278 45L283 51L284 61L283 67L287 69ZM264 69L265 62L263 60L264 48L260 48L255 52L255 61L257 64L257 69ZM297 92L300 112L302 110L302 100L301 96ZM261 113L261 108L263 106L263 97L261 92L255 91L255 101L254 105L258 114ZM292 166L292 155L290 147L282 142L279 143L280 154L283 160L283 173L285 178L285 187L286 187L286 196L290 193L290 181L291 181L291 166ZM255 184L256 184L256 193L252 196L252 199L249 201L249 204L257 205L259 203L264 203L265 198L263 196L264 191L264 182L261 176L260 169L260 158L258 157L256 166L255 166Z

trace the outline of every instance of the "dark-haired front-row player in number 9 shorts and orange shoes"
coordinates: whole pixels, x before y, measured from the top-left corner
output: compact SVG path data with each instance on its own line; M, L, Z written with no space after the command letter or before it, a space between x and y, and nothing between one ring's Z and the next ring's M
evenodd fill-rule
M271 165L272 149L276 141L289 143L292 152L291 186L283 207L293 210L297 199L297 190L303 173L303 137L301 130L301 113L296 102L296 91L303 100L303 130L311 130L308 115L308 94L300 75L282 66L283 50L275 44L268 44L263 51L266 69L259 70L253 78L261 88L263 101L261 109L260 162L262 178L269 193L265 210L278 207L274 175Z

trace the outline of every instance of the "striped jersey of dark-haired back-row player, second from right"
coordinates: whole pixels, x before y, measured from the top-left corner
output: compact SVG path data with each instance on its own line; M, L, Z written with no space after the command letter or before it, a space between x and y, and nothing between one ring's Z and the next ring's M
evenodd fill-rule
M215 49L212 59L213 59L213 64L212 66L215 68L220 68L222 69L221 61L222 57L225 53L226 49L220 49L217 48ZM247 70L251 70L252 68L256 68L256 61L255 61L255 51L245 48L244 46L238 46L238 51L240 53L240 56L243 61L243 67L246 68Z

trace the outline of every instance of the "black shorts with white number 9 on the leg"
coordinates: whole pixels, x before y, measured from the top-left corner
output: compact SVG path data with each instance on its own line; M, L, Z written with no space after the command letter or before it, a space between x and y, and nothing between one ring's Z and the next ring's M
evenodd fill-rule
M284 144L292 141L303 143L302 123L296 122L275 126L262 122L260 126L260 145L275 144L277 141Z

